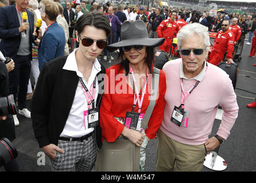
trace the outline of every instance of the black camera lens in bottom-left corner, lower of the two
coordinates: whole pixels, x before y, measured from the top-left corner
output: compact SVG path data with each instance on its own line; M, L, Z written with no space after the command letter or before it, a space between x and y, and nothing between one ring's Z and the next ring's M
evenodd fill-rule
M0 138L0 167L18 156L17 150L7 138Z

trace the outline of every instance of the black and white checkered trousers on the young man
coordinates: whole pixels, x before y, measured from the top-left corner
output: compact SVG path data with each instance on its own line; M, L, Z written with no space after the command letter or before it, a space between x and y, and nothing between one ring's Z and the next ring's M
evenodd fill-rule
M57 152L55 160L50 158L52 172L90 172L92 170L98 152L94 133L88 140L59 140L57 146L65 153Z

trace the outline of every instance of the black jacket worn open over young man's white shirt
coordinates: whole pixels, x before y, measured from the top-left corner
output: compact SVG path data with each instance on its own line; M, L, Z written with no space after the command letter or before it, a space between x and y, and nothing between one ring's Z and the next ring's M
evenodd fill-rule
M46 62L38 77L30 108L34 134L40 148L49 144L57 145L75 98L79 77L75 71L63 69L66 60L67 56L64 56ZM100 65L102 70L97 75L106 73L104 66ZM100 83L103 79L98 80ZM102 91L103 87L99 88L96 102L98 107L102 100ZM100 149L100 125L96 126L94 133Z

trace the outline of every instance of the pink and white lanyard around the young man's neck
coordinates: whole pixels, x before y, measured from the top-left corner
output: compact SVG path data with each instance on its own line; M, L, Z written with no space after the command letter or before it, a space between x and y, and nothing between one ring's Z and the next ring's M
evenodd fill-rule
M79 78L79 83L80 83L80 86L82 87L83 89L83 92L84 92L84 96L86 96L86 100L87 100L87 105L88 105L88 109L91 109L91 105L92 105L92 109L95 108L95 102L94 102L94 98L95 98L95 89L96 89L96 77L94 79L94 85L92 87L90 87L90 92L89 90L87 89L86 85L84 85L84 82L82 80L82 78ZM92 93L92 96L91 96L91 93Z

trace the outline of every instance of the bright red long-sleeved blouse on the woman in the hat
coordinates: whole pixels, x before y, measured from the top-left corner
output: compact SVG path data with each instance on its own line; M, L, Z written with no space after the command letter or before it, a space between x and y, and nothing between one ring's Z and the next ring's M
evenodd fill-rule
M108 142L114 142L122 133L123 128L125 128L125 126L118 122L114 117L125 119L126 112L131 111L133 107L133 88L128 85L126 82L127 78L123 74L123 69L120 70L119 67L120 65L113 65L106 69L104 93L100 106L100 126L102 127L102 138L105 138ZM123 77L118 78L120 75L123 75ZM149 106L151 83L152 79L149 75L146 93L141 107L141 113L143 114L146 113ZM156 137L157 130L161 125L162 118L164 117L163 109L165 108L165 90L165 73L164 71L160 70L157 101L152 115L150 116L148 128L145 130L146 136L148 136L150 139ZM138 104L135 106L134 112L138 112Z

